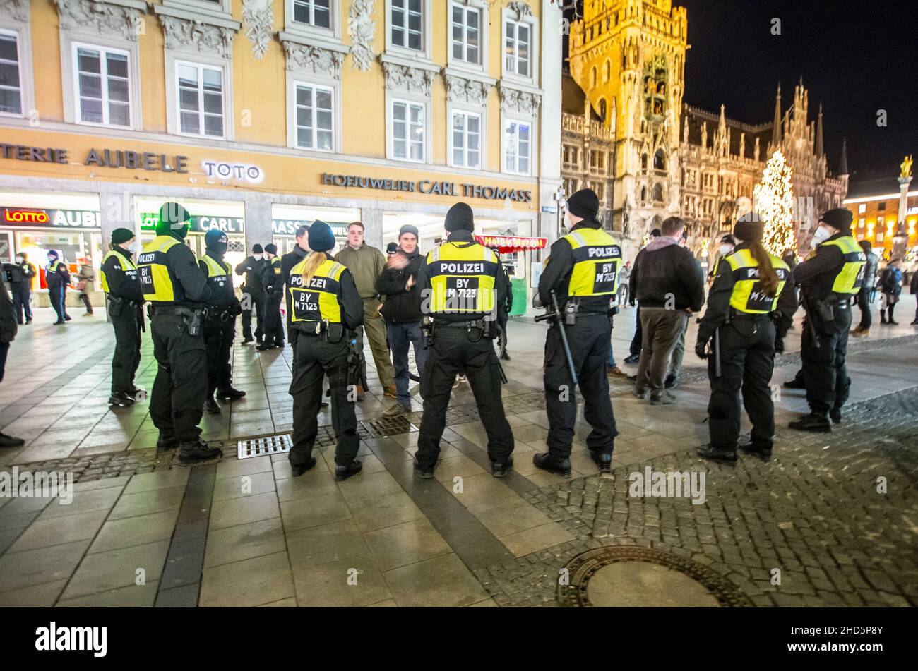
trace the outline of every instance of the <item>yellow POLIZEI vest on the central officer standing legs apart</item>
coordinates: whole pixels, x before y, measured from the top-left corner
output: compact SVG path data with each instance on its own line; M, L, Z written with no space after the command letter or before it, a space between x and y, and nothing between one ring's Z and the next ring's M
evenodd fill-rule
M490 314L499 262L493 251L477 243L434 247L427 255L431 313Z

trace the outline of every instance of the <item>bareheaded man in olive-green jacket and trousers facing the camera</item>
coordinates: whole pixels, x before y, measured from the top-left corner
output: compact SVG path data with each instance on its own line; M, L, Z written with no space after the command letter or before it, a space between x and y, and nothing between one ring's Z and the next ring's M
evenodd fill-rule
M364 225L355 221L347 227L347 245L338 253L337 259L353 274L357 292L364 301L364 325L357 329L357 343L363 350L365 331L370 341L370 351L373 352L376 374L383 387L383 395L390 399L397 398L392 362L389 360L389 348L386 346L386 322L379 314L381 301L376 286L386 267L386 258L379 249L366 244ZM364 400L362 385L357 387L357 400Z

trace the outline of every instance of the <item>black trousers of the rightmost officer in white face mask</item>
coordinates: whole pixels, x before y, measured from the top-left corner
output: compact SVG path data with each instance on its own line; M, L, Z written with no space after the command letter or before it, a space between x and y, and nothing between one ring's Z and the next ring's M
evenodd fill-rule
M815 326L815 338L810 328L811 323ZM845 356L850 327L851 305L846 299L835 304L834 320L831 323L823 324L818 317L809 313L806 315L800 358L803 360L806 400L813 413L824 414L839 410L848 400L851 379L845 369Z

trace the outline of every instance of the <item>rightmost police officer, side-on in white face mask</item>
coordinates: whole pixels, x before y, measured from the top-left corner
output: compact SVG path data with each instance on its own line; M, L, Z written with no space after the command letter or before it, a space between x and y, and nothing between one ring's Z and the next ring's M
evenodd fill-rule
M789 424L792 429L828 433L842 421L851 380L845 370L851 298L864 282L867 257L851 236L852 214L845 208L829 210L812 236L815 248L794 269L800 285L803 334L800 358L810 414ZM830 422L831 418L831 422Z

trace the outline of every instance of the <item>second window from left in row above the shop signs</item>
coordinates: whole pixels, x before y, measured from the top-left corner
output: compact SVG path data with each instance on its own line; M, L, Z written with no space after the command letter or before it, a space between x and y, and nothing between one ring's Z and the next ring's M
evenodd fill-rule
M127 51L73 45L77 120L130 126L130 66Z

